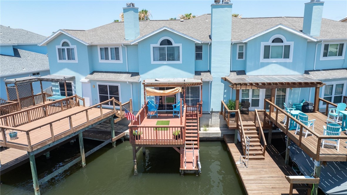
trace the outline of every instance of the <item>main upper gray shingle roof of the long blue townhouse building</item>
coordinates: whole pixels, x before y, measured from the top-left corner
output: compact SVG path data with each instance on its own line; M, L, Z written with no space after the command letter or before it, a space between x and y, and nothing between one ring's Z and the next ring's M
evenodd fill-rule
M231 40L244 40L279 24L302 31L303 17L236 18L232 17ZM184 20L144 20L139 22L141 38L157 29L167 26L200 41L210 41L211 14L204 14ZM90 30L63 31L87 43L129 43L125 40L124 22L115 22ZM347 39L347 23L322 19L321 33L316 39Z

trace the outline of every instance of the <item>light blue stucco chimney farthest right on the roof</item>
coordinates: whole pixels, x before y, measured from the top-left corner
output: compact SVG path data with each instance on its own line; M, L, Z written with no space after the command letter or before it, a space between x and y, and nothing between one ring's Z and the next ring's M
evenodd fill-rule
M321 32L324 2L311 0L305 3L303 33L310 36L319 36Z

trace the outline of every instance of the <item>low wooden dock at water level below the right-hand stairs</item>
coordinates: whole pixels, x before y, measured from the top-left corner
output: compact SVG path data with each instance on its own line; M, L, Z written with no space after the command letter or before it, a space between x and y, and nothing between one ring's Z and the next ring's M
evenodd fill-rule
M251 160L248 168L243 168L243 164L236 164L243 155L241 144L235 144L234 135L230 134L224 135L224 140L248 195L289 194L290 184L285 176L296 173L273 146L266 148L265 160ZM307 190L294 189L293 194L307 194Z

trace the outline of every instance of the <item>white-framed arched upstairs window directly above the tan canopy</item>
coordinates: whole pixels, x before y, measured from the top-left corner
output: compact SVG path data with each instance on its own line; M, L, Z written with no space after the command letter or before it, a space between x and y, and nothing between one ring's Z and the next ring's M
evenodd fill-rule
M151 44L151 63L182 63L182 44L162 37L157 44Z

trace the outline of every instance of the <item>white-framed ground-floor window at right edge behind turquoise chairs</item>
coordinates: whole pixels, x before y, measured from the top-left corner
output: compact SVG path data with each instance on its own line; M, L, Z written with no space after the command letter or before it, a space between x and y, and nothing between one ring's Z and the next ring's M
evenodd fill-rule
M341 103L346 93L346 85L346 81L327 82L322 89L323 99L336 104ZM323 104L325 105L325 102L323 102Z

